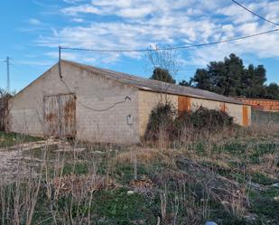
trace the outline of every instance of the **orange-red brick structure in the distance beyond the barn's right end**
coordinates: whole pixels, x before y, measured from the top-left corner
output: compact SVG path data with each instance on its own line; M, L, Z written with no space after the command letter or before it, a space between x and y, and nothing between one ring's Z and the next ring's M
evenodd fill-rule
M263 98L237 98L244 104L260 111L279 112L279 100Z

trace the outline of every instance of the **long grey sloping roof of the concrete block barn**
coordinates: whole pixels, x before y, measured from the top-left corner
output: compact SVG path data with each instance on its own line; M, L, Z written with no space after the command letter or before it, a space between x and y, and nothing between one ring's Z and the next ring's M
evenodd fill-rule
M108 79L116 80L127 85L132 85L138 89L149 90L154 92L164 92L168 94L188 96L193 98L204 98L243 105L242 101L240 100L222 96L214 92L210 92L208 90L193 89L190 87L183 87L180 85L170 84L159 80L144 79L139 76L126 74L123 72L116 72L114 70L101 69L98 67L80 64L74 61L63 60L63 62L70 63L74 66L78 66L81 69L105 76Z

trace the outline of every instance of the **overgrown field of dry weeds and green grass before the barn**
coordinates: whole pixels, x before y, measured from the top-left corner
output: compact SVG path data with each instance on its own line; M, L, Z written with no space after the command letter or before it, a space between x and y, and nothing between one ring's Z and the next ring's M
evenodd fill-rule
M279 224L278 125L129 146L28 138L1 134L0 224Z

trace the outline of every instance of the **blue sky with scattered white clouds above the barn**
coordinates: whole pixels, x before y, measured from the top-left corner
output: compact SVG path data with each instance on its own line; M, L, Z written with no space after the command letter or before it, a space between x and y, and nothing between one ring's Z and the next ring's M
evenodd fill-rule
M240 1L279 23L279 1ZM216 42L276 26L229 0L9 0L0 3L0 86L5 57L12 89L20 90L58 61L58 45L93 49L146 49ZM234 52L246 65L264 64L268 82L279 82L279 32L241 42L175 52L176 80ZM63 51L62 58L149 77L144 53Z

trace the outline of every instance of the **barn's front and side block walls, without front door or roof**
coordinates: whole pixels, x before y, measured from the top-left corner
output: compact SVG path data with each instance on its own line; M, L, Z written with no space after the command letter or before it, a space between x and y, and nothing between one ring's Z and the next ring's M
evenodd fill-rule
M58 64L54 65L9 101L10 131L45 136L48 126L43 99L46 96L75 96L75 138L87 142L137 143L144 136L150 114L158 103L167 101L179 109L179 96L166 94L163 89L161 92L143 90L66 61L60 62L60 70L61 74ZM184 103L183 107L191 110L200 106L226 110L237 124L250 125L248 106L244 119L241 104L192 97Z

